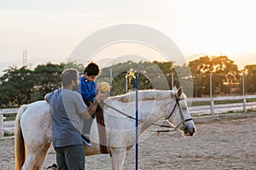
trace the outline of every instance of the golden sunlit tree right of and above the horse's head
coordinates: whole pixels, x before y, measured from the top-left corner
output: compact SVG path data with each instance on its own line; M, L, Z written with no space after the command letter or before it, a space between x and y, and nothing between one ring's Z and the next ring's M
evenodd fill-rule
M212 73L213 94L229 94L225 84L239 82L240 76L237 65L227 56L204 56L189 62L194 82L195 97L209 94L209 74Z

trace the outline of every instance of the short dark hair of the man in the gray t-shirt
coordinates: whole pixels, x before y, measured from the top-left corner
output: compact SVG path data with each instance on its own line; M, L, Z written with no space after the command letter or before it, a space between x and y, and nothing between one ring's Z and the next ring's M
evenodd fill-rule
M76 69L66 69L61 73L61 83L63 87L71 85L72 81L77 81L79 71Z

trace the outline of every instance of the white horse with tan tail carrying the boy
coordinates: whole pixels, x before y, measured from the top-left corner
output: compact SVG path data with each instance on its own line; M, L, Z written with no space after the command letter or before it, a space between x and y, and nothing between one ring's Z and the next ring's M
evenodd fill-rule
M121 170L127 150L136 144L135 93L110 97L103 106L106 136L112 158L112 169ZM161 118L183 132L184 136L195 133L186 96L182 88L171 90L138 91L138 134ZM122 113L122 114L121 114ZM125 114L124 114L125 113ZM126 115L126 116L125 116ZM128 116L129 115L129 116ZM84 145L85 156L101 154L96 120L90 130L92 147ZM52 141L49 104L45 101L22 105L15 120L15 167L16 170L42 169Z

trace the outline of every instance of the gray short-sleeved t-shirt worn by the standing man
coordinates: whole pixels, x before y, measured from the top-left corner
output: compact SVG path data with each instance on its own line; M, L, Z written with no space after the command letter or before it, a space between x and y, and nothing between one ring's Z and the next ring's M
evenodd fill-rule
M50 105L53 128L53 146L63 147L83 144L81 137L84 117L88 111L81 94L66 88L60 88L46 95Z

